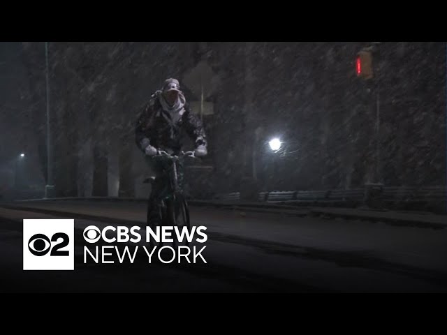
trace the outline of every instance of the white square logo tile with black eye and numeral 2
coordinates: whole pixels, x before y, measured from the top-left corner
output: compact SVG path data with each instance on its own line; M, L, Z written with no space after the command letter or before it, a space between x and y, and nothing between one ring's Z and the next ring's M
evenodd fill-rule
M23 269L74 270L73 219L24 219Z

